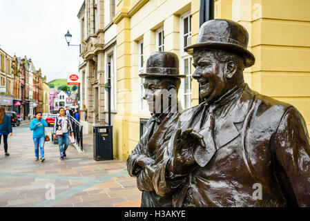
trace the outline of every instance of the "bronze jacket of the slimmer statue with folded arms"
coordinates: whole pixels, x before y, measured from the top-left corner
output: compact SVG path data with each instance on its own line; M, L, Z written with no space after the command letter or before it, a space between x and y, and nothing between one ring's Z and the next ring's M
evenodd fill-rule
M182 110L180 110L182 111ZM142 135L137 146L129 155L127 160L127 170L130 176L137 177L137 187L142 192L142 207L160 207L172 206L172 196L166 194L164 197L159 197L153 187L153 173L155 172L155 164L147 165L141 168L137 165L136 159L141 155L151 157L155 162L162 162L164 158L164 150L167 145L164 145L165 140L170 140L171 128L175 126L177 113L168 113L159 124L158 128L151 134L148 139L149 130L151 129L151 119L146 123L146 132Z

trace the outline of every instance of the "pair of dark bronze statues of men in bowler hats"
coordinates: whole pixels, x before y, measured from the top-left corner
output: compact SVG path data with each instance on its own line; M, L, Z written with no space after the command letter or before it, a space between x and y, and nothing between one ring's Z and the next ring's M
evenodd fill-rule
M310 206L306 124L295 107L244 83L255 62L248 39L234 21L201 26L185 50L204 102L184 111L177 55L148 58L140 77L152 117L127 160L142 206Z

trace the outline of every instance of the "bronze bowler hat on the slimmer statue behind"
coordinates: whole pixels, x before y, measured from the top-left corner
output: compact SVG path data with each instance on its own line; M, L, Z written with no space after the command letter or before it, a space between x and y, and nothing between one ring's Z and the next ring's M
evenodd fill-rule
M153 52L146 61L146 73L139 77L186 77L179 74L179 59L173 52Z

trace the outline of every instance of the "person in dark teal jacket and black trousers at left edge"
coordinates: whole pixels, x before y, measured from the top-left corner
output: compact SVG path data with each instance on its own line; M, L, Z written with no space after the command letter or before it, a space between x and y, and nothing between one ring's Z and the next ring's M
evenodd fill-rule
M8 135L12 136L12 125L11 125L11 117L6 114L5 108L3 106L0 107L0 144L1 137L3 136L3 144L4 144L4 156L8 157L10 153L8 153Z

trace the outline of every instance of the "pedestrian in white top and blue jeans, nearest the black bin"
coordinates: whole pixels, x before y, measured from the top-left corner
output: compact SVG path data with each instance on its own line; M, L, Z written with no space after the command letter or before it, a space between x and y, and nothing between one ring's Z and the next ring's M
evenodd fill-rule
M64 108L59 108L59 116L55 117L54 122L54 138L58 137L60 160L66 158L66 150L69 146L69 133L74 135L70 118L66 115Z

